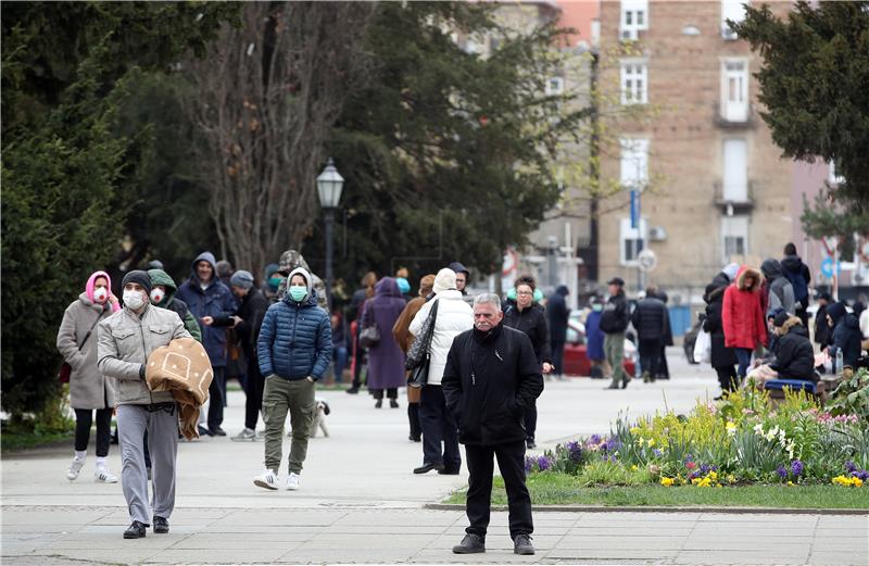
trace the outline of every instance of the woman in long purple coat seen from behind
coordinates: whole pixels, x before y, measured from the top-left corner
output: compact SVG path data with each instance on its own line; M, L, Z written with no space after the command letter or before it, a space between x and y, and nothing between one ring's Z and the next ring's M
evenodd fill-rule
M383 277L375 286L374 297L365 302L362 314L362 328L377 324L380 341L368 349L368 391L377 400L375 407L383 406L383 390L389 398L389 406L399 406L399 388L406 382L404 376L404 352L401 351L392 327L395 325L406 302L392 277Z

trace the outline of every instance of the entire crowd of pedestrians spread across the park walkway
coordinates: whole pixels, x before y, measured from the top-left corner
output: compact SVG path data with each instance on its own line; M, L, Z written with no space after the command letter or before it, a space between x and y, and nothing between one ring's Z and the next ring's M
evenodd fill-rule
M817 379L808 332L810 275L793 244L784 251L781 261L769 259L760 268L729 264L705 289L702 330L723 392L750 377L760 385L774 377ZM244 423L230 438L263 441L264 469L253 483L267 490L281 488L288 417L282 487L300 489L308 438L324 407L317 383L347 380L350 394L365 387L376 410L385 401L399 408L399 391L406 388L407 436L420 443L414 474L459 474L458 444L465 445L470 525L455 553L484 551L495 460L507 489L514 550L533 553L525 454L537 445L536 401L544 377L568 373L565 351L571 336L584 335L588 373L608 378L606 389L625 389L635 376L644 382L669 379L665 350L673 342L667 294L650 286L632 304L620 277L607 281L606 297L589 297L576 317L567 286L546 298L530 275L517 277L503 298L473 297L471 273L459 262L423 276L414 297L405 268L386 277L369 272L344 310L330 304L324 281L295 250L269 264L262 280L207 251L193 260L180 285L160 262L147 267L124 275L121 299L109 274L93 273L58 334L76 415L66 477L75 480L84 468L96 411L95 480L118 481L106 465L115 414L121 483L131 519L125 538L144 537L149 527L168 532L182 438L179 410L172 392L151 390L146 377L152 354L176 340L201 343L202 360L210 363L207 407L194 427L200 437L227 436L226 383L231 378L241 383ZM814 339L821 357L855 366L861 341L869 338L869 311L846 307L826 293L817 302ZM264 430L257 431L260 417Z

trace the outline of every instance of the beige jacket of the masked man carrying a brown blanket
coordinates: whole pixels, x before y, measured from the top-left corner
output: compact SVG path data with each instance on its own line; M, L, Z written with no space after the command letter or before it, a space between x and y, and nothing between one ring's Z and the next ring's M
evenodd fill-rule
M175 312L149 304L138 316L125 306L97 328L97 367L114 379L118 405L174 401L171 391L152 393L139 370L158 348L176 338L192 338Z

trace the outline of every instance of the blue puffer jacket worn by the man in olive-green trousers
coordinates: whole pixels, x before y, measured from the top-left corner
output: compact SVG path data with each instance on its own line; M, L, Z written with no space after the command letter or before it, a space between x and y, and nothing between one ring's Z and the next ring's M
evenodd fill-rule
M275 374L291 381L323 377L332 357L332 334L329 315L317 306L316 292L310 285L301 303L287 293L284 300L268 307L256 352L264 376Z

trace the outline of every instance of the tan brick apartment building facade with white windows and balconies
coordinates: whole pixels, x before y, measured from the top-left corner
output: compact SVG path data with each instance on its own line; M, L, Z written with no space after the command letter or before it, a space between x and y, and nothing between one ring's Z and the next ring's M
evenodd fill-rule
M791 2L771 9L784 15ZM726 24L743 15L735 0L601 3L604 104L639 113L602 112L601 174L622 190L601 204L599 281L654 284L696 305L725 264L781 257L798 236L799 173L759 115L761 60ZM656 259L645 273L642 250Z

